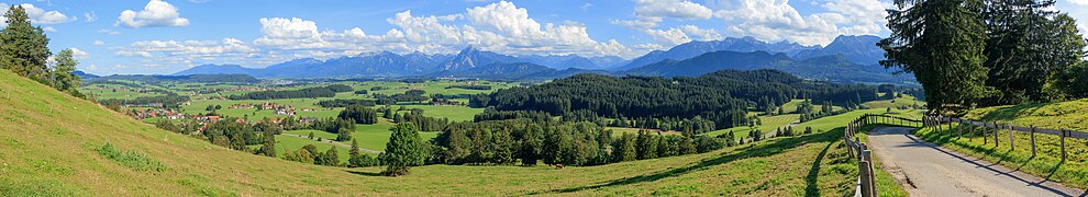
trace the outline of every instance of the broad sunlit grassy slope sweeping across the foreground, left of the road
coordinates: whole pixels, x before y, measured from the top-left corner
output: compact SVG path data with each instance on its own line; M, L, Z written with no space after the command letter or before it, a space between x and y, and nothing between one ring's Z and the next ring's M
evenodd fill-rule
M704 154L567 167L414 167L403 177L380 169L315 166L252 155L131 120L90 102L0 70L0 193L40 195L753 195L845 196L854 164L841 129L773 139ZM140 172L95 148L110 142L163 162Z

